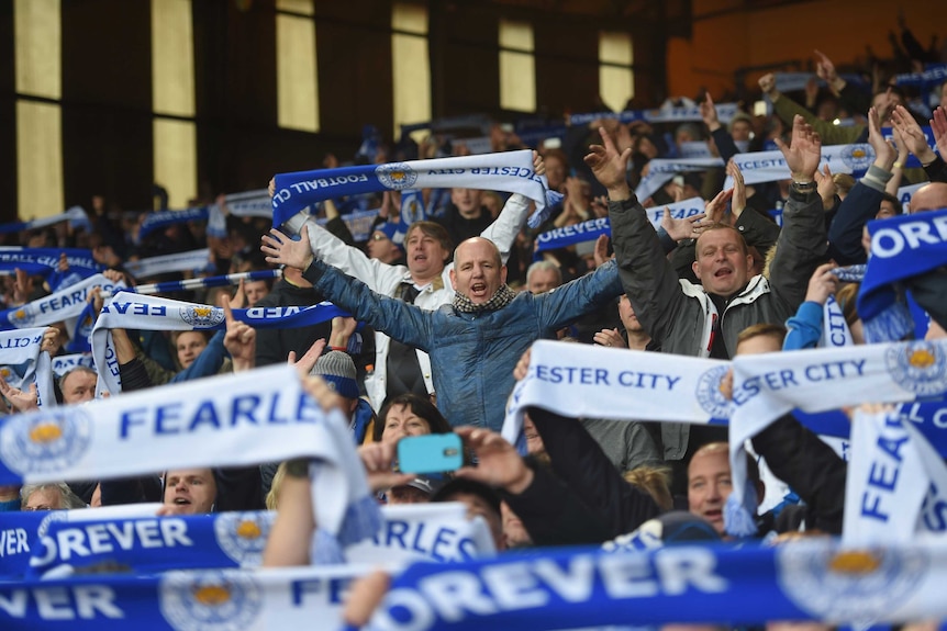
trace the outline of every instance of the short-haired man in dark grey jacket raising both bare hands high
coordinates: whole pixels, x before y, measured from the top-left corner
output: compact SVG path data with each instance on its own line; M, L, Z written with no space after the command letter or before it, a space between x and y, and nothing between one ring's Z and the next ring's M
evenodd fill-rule
M661 352L728 359L740 330L760 323L781 324L795 313L826 251L815 183L822 146L801 116L793 121L792 144L777 142L792 184L768 279L750 278L753 257L738 226L713 224L697 240L693 271L700 284L679 280L645 209L625 181L631 151L620 154L601 133L603 146L592 146L586 162L609 191L609 218L625 293ZM664 425L665 460L676 464L678 491L687 459L706 442L725 441L725 433L709 426Z

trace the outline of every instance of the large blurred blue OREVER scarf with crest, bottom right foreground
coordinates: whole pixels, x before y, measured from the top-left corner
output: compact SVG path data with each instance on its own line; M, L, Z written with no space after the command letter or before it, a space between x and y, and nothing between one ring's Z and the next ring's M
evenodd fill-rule
M680 545L648 552L548 550L463 564L414 564L370 631L541 631L665 623L831 624L940 619L943 542L850 552L837 540L776 548Z

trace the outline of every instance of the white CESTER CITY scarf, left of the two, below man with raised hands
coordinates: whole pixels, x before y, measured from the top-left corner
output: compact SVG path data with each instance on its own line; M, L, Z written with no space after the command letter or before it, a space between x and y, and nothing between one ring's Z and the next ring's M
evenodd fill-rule
M522 444L528 406L573 418L726 425L731 404L720 385L728 369L715 359L538 340L506 405L503 438Z

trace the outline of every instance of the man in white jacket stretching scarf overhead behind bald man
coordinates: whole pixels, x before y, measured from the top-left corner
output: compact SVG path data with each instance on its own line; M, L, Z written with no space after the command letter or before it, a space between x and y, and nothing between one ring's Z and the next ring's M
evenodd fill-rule
M545 172L543 158L533 151L536 174ZM530 214L531 201L513 194L497 221L480 236L493 241L500 249L503 262L516 240L516 235ZM361 250L345 245L320 227L313 217L299 213L283 225L287 232L299 234L303 225L309 226L309 240L313 256L346 274L354 277L372 291L434 311L450 304L454 290L447 259L456 244L452 244L446 230L433 222L415 222L404 237L406 266L391 266L368 258ZM375 334L375 371L365 379L365 388L371 406L381 409L389 395L403 392L434 395L431 360L427 354L391 340L387 335ZM392 372L390 373L389 370Z

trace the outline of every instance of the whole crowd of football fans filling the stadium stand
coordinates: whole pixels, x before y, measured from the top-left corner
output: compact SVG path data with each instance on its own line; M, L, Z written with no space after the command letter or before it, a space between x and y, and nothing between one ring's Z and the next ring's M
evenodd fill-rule
M90 251L109 282L130 288L281 270L236 286L161 294L218 307L225 317L215 333L200 324L148 330L143 319L109 328L121 379L121 393L109 398L289 363L320 406L339 410L348 422L378 503L463 502L471 518L486 521L501 553L614 544L648 529L667 544L733 541L725 514L739 481L726 425L620 414L577 419L530 406L522 440L501 431L508 401L530 374L530 349L539 339L559 340L562 353L568 342L627 349L639 363L642 352L732 360L815 348L828 329L831 302L844 316L850 343L878 341L859 316L860 278L846 272L869 260L868 222L947 209L947 82L898 84L894 76L913 68L895 66L889 68L891 82L877 75L873 83L846 80L817 52L814 65L821 81L813 77L803 90L783 93L777 77L759 79L757 94L769 113L747 101L724 121L711 95L701 94L673 103L697 108L700 122L602 115L573 122L561 138L539 139L534 147L497 126L493 153L534 149L535 174L561 193L536 227L526 223L536 210L528 196L461 188L421 191L420 217L408 213L401 191L390 190L328 199L280 226L230 213L221 195L192 205L216 204L225 216L223 232L198 218L145 235L142 227L153 212L123 212L96 198L85 226L66 221L0 233L3 246L64 252L49 271L8 269L0 307L14 314L78 282L69 280L67 249ZM853 169L855 176L832 172L823 159L826 147L866 144L870 150L861 150L869 157ZM705 151L701 158L721 158L720 166L692 167L688 151L695 146ZM786 174L745 183L740 161L757 151L779 151ZM357 159L383 165L470 151L463 140L452 146L432 135L421 146L380 143L372 154ZM654 166L666 161L679 170L649 183L656 182ZM345 165L327 156L324 166ZM270 182L269 195L275 193ZM700 212L672 212L694 199ZM370 211L368 229L356 225L353 211ZM591 232L605 218L606 234ZM539 247L582 232L592 238ZM135 261L202 248L209 258L200 270L133 272ZM927 340L945 337L945 280L940 268L905 281L929 317ZM118 291L111 295L123 295ZM91 312L83 313L91 323L110 300L101 288L88 292ZM324 302L344 313L258 329L231 315ZM51 325L42 352L78 357L70 350L75 335L65 322ZM41 403L52 408L43 401L44 387L59 406L100 397L109 367L88 357L46 375L45 385L18 383L22 374L0 359L4 414L30 414ZM734 395L728 379L721 387L727 398ZM450 433L463 441L463 466L427 474L399 467L402 439ZM843 449L791 414L750 443L751 537L843 532ZM270 509L277 516L263 565L307 565L320 527L310 474L308 459L289 459L24 484L0 488L0 510L160 503L158 514L169 517ZM375 575L356 589L350 623L368 620L387 581Z

